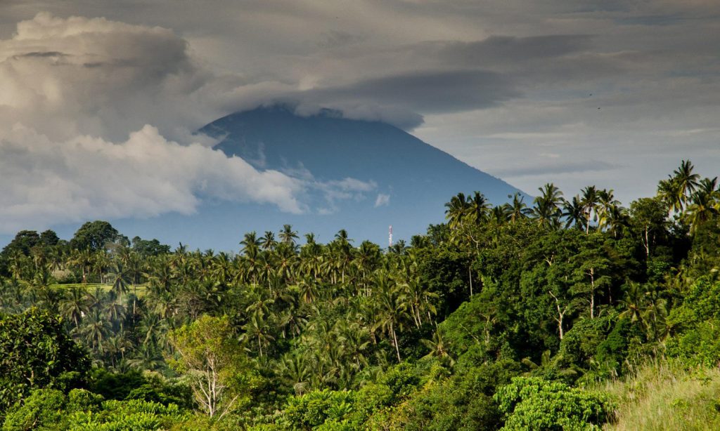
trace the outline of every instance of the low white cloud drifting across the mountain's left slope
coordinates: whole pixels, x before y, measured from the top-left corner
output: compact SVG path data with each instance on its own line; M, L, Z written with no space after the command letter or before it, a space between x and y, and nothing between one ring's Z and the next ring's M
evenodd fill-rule
M91 136L58 142L25 126L0 136L1 231L89 218L193 213L204 198L306 210L305 185L260 172L238 157L200 144L170 142L152 126L112 143Z

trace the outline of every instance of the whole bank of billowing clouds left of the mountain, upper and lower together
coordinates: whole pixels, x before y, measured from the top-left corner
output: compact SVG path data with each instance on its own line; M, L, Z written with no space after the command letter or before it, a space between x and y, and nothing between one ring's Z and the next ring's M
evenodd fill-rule
M334 205L372 189L256 170L192 134L257 103L253 93L273 91L210 73L169 29L47 13L20 22L0 40L0 231L190 214L203 199L304 213L307 190Z

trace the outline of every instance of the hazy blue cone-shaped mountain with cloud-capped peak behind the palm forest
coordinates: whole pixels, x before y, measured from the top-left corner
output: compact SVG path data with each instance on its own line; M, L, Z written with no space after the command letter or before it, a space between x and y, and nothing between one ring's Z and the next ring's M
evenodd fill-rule
M356 245L370 239L387 246L388 226L396 241L425 233L429 223L444 221L444 203L458 192L479 190L503 203L518 191L395 126L342 119L333 111L302 117L287 108L258 108L225 116L200 132L222 138L217 149L260 170L280 170L315 184L302 197L307 213L204 198L194 215L109 220L113 226L130 238L158 238L172 246L182 241L192 249L236 251L243 233L277 232L284 223L301 236L314 232L323 242L345 228ZM71 238L80 225L53 228Z

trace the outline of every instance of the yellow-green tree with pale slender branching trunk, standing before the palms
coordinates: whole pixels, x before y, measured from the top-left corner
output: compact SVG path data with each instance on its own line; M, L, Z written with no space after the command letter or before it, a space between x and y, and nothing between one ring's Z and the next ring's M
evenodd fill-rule
M190 381L199 406L222 419L243 407L258 383L227 317L203 315L169 334L174 355L168 363Z

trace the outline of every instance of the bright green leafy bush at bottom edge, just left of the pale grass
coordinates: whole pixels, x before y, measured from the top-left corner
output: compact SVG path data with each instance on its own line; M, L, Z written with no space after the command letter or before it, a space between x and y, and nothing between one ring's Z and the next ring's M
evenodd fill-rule
M494 397L505 417L503 430L590 430L610 419L605 394L536 377L516 377Z

